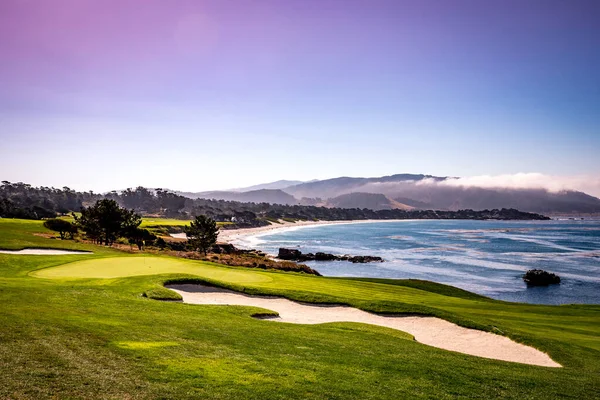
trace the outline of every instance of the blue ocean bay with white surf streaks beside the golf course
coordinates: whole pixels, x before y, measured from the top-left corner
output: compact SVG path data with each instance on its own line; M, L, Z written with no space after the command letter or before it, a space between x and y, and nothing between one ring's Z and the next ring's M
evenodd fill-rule
M600 304L600 221L409 220L292 227L237 239L277 254L373 255L383 263L307 262L325 276L425 279L494 299ZM528 269L558 274L559 285L527 287Z

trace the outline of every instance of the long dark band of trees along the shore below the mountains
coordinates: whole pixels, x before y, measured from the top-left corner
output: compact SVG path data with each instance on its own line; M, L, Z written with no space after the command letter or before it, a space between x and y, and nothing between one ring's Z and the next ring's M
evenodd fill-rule
M120 193L105 194L76 192L69 188L35 188L24 183L3 182L0 186L0 217L54 218L57 215L79 212L98 200L112 200L120 207L148 217L191 220L205 215L222 229L248 228L269 225L270 221L324 220L347 221L367 219L495 219L543 220L539 214L515 209L493 210L370 210L366 208L328 208L317 206L283 205L270 203L241 203L236 201L191 199L163 189L143 187ZM167 229L168 228L162 228ZM181 228L176 228L181 229Z

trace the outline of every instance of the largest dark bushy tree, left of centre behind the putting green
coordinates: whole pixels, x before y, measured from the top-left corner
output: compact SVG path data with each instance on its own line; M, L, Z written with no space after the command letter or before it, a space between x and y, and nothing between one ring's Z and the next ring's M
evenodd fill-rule
M142 217L133 210L119 207L114 200L104 199L91 207L83 207L76 223L90 239L110 246L119 237L127 236L137 228Z

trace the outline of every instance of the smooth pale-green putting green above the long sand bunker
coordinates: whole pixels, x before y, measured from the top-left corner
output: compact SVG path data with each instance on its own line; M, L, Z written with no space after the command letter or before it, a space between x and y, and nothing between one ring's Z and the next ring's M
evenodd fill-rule
M123 278L128 276L159 274L191 274L204 278L237 283L269 282L262 274L217 267L201 261L177 260L163 257L110 257L77 261L58 267L45 268L31 273L46 279Z

